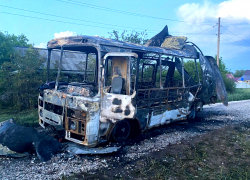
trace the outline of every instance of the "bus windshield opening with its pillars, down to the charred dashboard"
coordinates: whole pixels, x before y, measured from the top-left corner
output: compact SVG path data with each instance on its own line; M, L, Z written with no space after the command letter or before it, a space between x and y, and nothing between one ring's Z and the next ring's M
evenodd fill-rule
M53 49L49 54L47 82L55 84L56 89L77 86L98 92L98 57L94 47Z

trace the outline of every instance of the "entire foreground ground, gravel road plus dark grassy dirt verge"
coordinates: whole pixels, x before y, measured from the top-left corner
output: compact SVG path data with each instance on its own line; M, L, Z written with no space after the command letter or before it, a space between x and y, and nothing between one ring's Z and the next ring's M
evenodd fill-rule
M0 179L250 179L250 100L205 106L191 121L141 133L109 155L0 157Z

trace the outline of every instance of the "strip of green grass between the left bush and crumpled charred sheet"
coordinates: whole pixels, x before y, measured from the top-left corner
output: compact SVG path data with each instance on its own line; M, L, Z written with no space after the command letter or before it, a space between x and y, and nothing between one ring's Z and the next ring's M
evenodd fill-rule
M0 122L12 118L17 124L20 124L23 126L36 127L39 125L37 111L38 111L37 109L23 110L23 111L16 111L10 108L1 109Z

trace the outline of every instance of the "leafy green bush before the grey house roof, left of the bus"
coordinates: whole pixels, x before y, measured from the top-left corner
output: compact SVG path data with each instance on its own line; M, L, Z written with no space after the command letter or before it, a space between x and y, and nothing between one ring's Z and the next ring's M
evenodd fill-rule
M24 55L15 52L10 62L0 69L0 106L23 110L37 106L38 87L45 75L38 69L45 61L37 49L28 49ZM44 73L44 72L42 72Z

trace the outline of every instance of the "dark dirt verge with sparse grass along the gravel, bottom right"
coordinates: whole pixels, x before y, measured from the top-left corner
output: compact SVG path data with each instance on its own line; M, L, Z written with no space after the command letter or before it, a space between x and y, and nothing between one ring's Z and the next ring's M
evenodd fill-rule
M250 179L250 123L169 145L134 161L63 179Z

